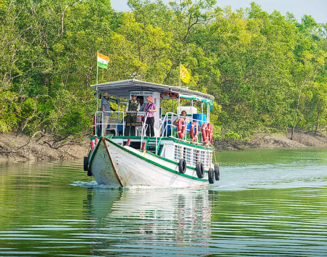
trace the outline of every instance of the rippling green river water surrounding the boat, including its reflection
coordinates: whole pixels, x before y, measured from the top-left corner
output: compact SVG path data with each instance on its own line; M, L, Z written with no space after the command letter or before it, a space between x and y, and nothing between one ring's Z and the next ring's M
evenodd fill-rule
M82 160L0 163L0 257L327 256L327 148L217 161L203 189L108 189Z

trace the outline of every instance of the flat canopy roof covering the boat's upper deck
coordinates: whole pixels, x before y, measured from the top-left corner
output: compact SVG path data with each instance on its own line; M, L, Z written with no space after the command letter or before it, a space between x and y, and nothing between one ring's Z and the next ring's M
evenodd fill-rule
M213 104L215 97L209 94L205 94L198 91L189 90L185 87L168 86L163 84L156 84L138 79L127 79L120 81L113 81L108 83L102 83L92 85L91 88L94 91L101 93L108 92L110 95L118 97L129 98L130 91L153 91L162 93L163 98L174 98L179 96L185 99L194 99L200 102Z

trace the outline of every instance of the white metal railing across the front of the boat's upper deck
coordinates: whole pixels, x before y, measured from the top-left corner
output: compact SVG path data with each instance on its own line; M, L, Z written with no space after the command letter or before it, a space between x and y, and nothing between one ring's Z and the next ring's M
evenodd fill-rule
M118 126L122 126L122 135L124 136L125 135L125 127L126 127L126 123L125 123L125 114L131 114L131 113L136 113L137 116L143 116L145 117L144 121L136 121L137 123L141 122L142 123L142 136L144 134L144 131L145 129L147 128L146 127L146 118L147 118L147 115L146 115L146 112L126 112L126 111L116 111L116 112L110 112L110 116L113 116L114 114L117 114L117 119L121 122L116 122L116 123L103 123L104 121L104 112L95 112L95 121L94 121L94 125L95 126L95 135L96 136L99 136L98 133L99 133L99 128L102 126L102 128L104 128L103 126L106 126L108 127L108 125L113 125L113 126L116 126L116 128L118 128ZM122 116L122 119L120 120L119 117ZM101 132L100 132L100 136L104 136L104 129L101 129Z

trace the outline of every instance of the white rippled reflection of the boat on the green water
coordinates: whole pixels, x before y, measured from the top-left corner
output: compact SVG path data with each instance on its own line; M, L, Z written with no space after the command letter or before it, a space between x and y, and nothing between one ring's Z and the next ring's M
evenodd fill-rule
M99 243L95 248L111 249L121 242L135 245L154 241L207 241L211 236L212 202L216 193L206 189L90 192L87 206L95 220L92 230L98 235Z

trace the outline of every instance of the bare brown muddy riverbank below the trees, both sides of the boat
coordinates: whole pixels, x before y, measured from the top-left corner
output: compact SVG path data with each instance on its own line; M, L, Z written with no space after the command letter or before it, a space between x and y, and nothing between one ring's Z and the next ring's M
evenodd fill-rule
M322 135L295 132L293 140L290 133L265 134L260 133L249 137L248 141L220 140L215 142L216 150L244 150L246 148L272 147L327 147L327 138ZM90 149L89 137L83 138L78 144L67 144L59 148L51 147L45 141L51 141L49 135L29 138L26 135L16 136L15 133L0 134L0 161L42 161L42 160L72 160L81 159ZM65 142L61 142L65 143ZM21 147L19 149L19 147Z

